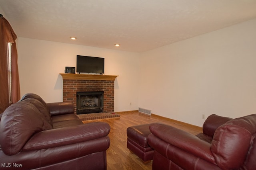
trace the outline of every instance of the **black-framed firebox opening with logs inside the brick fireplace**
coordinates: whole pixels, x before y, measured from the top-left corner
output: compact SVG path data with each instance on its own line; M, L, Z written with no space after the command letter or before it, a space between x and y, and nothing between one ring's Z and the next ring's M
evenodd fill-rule
M76 114L103 112L104 92L76 92Z

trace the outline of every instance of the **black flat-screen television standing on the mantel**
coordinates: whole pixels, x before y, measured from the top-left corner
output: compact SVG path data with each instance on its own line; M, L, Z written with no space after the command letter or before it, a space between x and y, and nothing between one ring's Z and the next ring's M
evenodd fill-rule
M77 55L76 56L76 72L103 74L104 58Z

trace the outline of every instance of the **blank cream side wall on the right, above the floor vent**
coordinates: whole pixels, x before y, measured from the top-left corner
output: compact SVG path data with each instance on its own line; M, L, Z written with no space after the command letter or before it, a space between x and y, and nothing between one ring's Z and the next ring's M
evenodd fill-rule
M255 30L256 19L142 53L139 107L198 126L256 113Z

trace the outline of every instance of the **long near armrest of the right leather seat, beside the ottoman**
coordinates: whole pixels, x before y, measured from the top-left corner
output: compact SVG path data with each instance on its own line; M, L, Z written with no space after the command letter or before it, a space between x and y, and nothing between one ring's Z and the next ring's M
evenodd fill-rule
M212 162L215 164L214 156L210 150L210 143L203 141L186 131L177 129L175 127L164 125L162 123L153 123L150 125L151 135L154 135L161 140L177 147L181 150L189 152L192 155L198 156L199 158ZM148 143L150 145L151 137L148 137ZM153 138L152 138L153 139ZM157 145L157 144L156 144ZM154 147L153 147L154 148ZM154 148L157 150L156 148Z

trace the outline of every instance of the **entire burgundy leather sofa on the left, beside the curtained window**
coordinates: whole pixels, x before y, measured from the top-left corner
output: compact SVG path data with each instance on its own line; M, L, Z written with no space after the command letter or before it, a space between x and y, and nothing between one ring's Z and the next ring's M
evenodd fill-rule
M106 170L110 126L83 124L71 102L26 94L1 116L1 170Z

